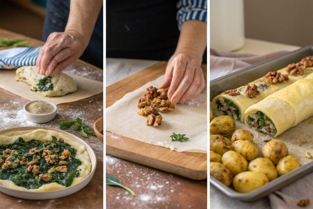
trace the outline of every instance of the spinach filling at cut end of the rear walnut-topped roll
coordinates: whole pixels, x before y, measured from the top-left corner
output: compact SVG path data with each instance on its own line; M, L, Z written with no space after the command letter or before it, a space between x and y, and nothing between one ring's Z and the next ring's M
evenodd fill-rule
M215 108L224 112L225 115L229 115L234 120L240 120L241 112L240 109L230 100L220 98L216 101Z

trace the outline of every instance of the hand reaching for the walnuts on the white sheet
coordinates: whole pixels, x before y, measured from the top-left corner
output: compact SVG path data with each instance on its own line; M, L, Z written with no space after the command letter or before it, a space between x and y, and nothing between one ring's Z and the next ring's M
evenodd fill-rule
M165 77L159 88L170 86L167 97L174 105L196 98L205 87L202 59L193 57L188 53L177 53L167 63Z

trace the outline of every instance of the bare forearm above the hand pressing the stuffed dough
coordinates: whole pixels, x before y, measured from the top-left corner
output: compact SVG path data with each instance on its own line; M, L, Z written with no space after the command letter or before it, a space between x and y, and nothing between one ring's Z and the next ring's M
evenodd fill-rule
M78 32L85 48L89 43L102 5L102 0L71 0L65 31Z

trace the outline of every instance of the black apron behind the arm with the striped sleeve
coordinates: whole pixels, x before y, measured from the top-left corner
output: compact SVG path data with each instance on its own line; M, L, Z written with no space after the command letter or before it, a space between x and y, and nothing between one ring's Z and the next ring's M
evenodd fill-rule
M177 2L107 0L106 57L169 60L179 38Z

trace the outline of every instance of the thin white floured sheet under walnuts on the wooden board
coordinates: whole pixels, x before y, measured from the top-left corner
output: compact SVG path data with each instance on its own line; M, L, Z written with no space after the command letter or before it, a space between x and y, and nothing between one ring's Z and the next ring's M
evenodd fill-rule
M146 116L138 115L137 98L143 97L146 88L159 86L164 75L126 94L106 109L106 130L145 143L173 145L178 152L207 151L207 91L206 88L193 101L177 104L172 112L161 113L161 126L147 126ZM152 102L152 101L151 101ZM174 141L172 133L186 134L187 141ZM116 139L118 140L118 139ZM193 150L192 150L193 149ZM203 152L203 151L202 151Z

